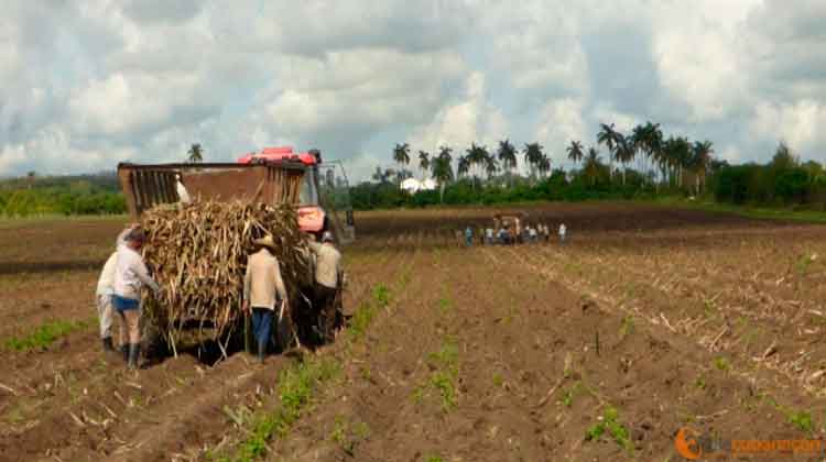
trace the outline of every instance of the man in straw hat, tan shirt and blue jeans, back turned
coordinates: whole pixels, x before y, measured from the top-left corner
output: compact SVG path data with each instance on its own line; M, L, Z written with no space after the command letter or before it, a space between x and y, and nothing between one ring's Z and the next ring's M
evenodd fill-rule
M256 246L247 260L243 276L243 311L252 316L252 332L258 343L258 360L264 362L267 345L270 343L272 319L279 307L279 319L290 306L286 297L281 267L275 257L275 241L265 235L252 242Z

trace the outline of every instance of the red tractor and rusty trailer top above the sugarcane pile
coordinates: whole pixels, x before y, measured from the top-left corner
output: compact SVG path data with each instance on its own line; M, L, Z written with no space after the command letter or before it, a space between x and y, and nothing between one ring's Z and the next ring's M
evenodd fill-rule
M292 146L264 147L236 163L121 163L118 177L134 219L157 204L180 201L180 178L192 198L292 204L302 231L320 239L329 230L340 243L356 237L347 175L340 163L323 164L317 150L300 153Z

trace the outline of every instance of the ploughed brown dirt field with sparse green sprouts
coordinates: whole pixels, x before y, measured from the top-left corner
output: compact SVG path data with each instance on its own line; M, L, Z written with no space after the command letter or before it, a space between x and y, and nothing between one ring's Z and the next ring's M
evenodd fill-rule
M568 242L458 245L455 231L492 209L358 213L354 328L304 358L338 372L257 453L675 462L683 427L724 443L824 437L826 227L626 204L524 210L564 221ZM284 406L294 356L182 355L130 373L99 351L94 287L121 227L0 227L0 460L231 460ZM8 346L55 320L77 326Z

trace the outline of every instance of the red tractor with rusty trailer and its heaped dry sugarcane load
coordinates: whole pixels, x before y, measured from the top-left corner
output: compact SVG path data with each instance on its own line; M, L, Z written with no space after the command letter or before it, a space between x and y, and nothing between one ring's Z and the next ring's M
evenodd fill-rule
M226 355L246 343L262 356L335 337L344 275L340 258L330 258L338 251L328 248L352 240L355 231L348 201L330 193L340 179L330 169L322 174L320 163L317 151L265 148L236 163L118 166L130 215L145 233L143 258L160 286L143 297L144 340L160 339L174 354L214 341ZM250 264L261 252L272 257L283 287L273 304L254 307L248 271L265 266ZM330 272L335 277L319 284L317 275ZM272 319L254 308L270 309Z

